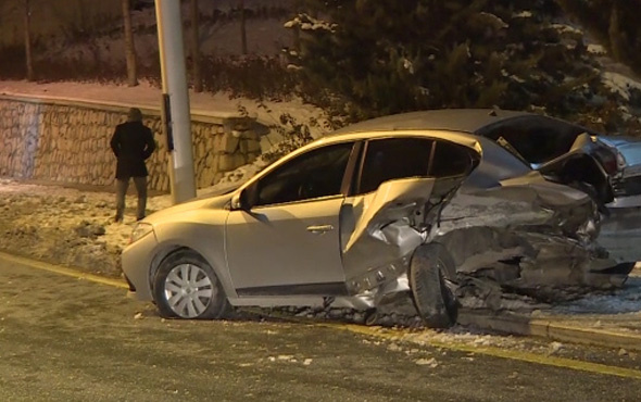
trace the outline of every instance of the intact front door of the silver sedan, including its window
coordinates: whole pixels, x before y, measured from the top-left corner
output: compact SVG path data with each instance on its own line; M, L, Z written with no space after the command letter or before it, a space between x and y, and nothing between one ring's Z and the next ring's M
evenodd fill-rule
M227 264L239 296L344 294L339 244L353 142L305 152L252 183L229 213Z

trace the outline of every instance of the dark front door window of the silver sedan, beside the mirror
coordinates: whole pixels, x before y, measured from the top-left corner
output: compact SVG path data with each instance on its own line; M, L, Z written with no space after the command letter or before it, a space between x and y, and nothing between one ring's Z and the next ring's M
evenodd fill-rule
M352 142L327 146L285 163L259 180L255 205L340 194L352 147Z

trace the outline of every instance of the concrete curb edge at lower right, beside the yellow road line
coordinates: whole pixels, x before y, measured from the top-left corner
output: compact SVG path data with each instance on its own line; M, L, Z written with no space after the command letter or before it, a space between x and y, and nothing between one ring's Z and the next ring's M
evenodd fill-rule
M567 317L564 317L567 318ZM499 332L536 336L564 342L591 344L641 352L641 335L615 332L605 329L555 323L554 319L524 316L494 316L483 313L462 312L458 324L492 329Z

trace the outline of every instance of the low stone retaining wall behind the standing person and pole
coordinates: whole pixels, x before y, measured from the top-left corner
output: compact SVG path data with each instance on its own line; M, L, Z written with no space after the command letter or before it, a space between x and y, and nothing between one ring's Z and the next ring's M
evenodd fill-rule
M142 110L143 123L158 143L147 161L149 188L168 191L168 153L160 111L128 104L0 96L0 176L112 185L115 158L109 141L130 106ZM240 115L192 115L197 186L211 186L225 172L257 158L261 135L266 133L265 126Z

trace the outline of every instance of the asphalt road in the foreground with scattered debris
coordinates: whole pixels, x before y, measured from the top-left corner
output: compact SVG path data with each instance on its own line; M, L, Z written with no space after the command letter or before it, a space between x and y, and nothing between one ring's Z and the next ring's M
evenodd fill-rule
M314 324L163 321L121 288L0 256L1 401L639 400L641 372L508 354Z

